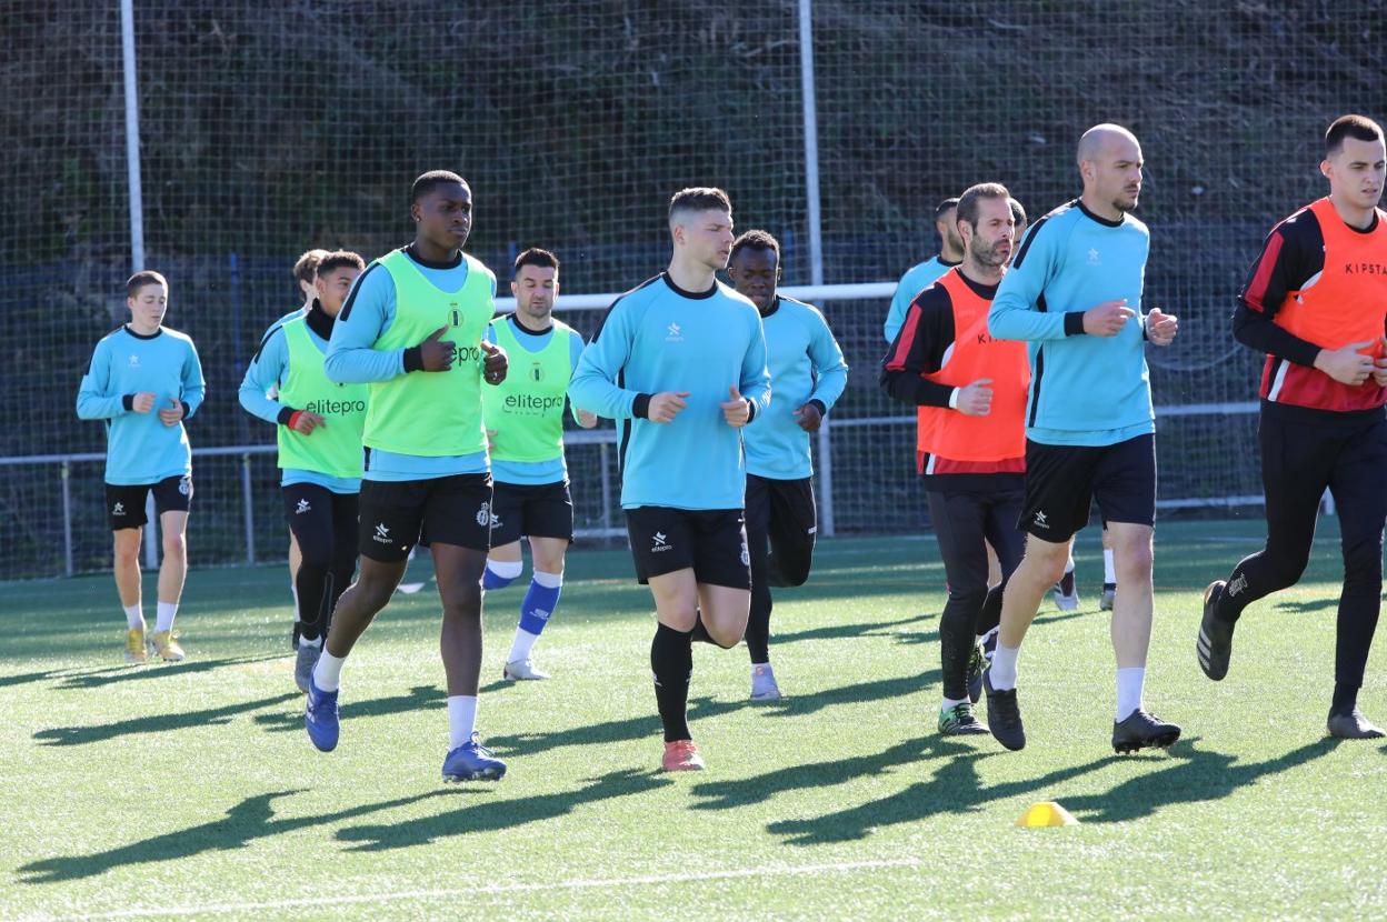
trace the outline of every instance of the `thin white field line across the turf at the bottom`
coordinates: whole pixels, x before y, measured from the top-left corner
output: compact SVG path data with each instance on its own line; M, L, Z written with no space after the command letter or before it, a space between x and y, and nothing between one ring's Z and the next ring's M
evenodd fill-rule
M438 900L445 897L467 897L498 893L540 893L545 890L601 890L605 887L632 887L660 883L688 883L691 880L738 880L745 878L804 876L820 873L842 873L852 871L878 871L885 868L918 868L920 858L889 858L879 861L843 861L841 864L786 865L779 868L738 868L732 871L705 871L680 873L655 873L639 878L592 878L574 880L549 880L545 883L494 883L472 887L448 887L436 890L399 890L397 893L361 893L331 897L301 897L295 900L270 900L262 903L208 903L203 905L184 904L169 907L147 907L93 912L89 915L28 915L21 922L78 922L87 919L148 919L157 916L222 915L234 912L255 912L272 910L293 910L312 907L345 907L415 900Z

